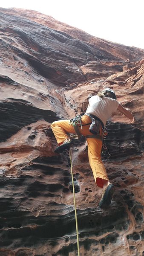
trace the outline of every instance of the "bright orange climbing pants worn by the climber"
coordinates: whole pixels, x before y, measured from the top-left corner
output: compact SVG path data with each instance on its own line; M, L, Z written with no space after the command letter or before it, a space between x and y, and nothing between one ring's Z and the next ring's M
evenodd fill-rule
M91 118L89 116L82 116L82 130L81 127L79 127L79 131L84 136L86 135L92 135L91 132L89 132L89 125L86 125L91 122ZM75 130L73 128L73 125L69 125L69 120L60 120L52 122L51 128L53 133L55 134L55 138L58 142L58 145L63 143L64 140L69 139L69 136L67 134L73 133L75 134ZM100 131L100 135L102 135L102 129ZM102 148L102 141L97 138L86 138L87 144L88 144L88 157L89 157L89 164L92 168L92 172L95 178L95 182L98 187L103 188L104 183L109 181L107 177L107 172L104 167L104 164L101 160L101 148Z

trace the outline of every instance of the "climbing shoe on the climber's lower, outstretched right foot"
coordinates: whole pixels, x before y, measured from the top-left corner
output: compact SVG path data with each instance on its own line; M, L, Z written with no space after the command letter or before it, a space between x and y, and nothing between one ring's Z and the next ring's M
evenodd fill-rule
M112 196L115 191L115 187L112 183L110 183L106 189L104 189L101 197L101 201L99 202L100 208L108 208L112 201Z

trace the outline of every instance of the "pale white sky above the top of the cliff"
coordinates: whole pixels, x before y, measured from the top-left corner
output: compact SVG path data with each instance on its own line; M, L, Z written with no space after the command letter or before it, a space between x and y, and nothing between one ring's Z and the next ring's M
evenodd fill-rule
M4 0L0 7L32 9L99 38L144 49L144 0Z

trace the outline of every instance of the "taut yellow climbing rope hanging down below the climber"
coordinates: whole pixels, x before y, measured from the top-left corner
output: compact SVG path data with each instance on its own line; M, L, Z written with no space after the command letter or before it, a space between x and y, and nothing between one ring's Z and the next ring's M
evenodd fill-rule
M71 155L71 149L69 149L69 157L70 157L70 165L71 165L72 189L73 189L74 206L75 206L75 224L76 224L76 232L77 232L78 256L80 256L79 239L78 239L78 220L77 220L77 209L76 209L76 204L75 204L75 187L74 187L74 180L73 180L73 173L72 173L72 155Z

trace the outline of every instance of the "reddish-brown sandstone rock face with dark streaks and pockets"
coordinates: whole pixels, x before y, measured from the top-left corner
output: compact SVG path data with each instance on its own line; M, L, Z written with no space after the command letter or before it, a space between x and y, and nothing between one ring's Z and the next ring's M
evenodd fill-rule
M50 124L86 111L110 87L135 123L116 112L103 158L115 185L98 207L84 138L72 165L81 256L144 255L144 50L95 38L50 16L0 8L0 256L75 256L69 154L55 154Z

